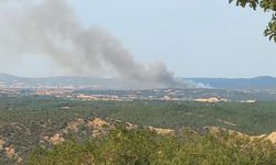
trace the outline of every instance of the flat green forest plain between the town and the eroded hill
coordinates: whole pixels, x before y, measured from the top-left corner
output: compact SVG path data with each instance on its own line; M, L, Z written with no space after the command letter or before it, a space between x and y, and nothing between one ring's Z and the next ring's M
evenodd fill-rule
M28 124L31 131L47 124L50 132L75 118L110 118L141 125L180 129L222 127L248 134L276 130L276 102L197 103L178 101L81 101L45 97L0 99L1 125Z

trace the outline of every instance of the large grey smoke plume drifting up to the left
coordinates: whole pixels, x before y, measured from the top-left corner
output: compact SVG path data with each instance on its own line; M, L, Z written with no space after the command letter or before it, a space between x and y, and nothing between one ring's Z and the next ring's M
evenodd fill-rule
M121 43L103 29L84 28L66 0L0 2L12 2L15 7L0 16L1 57L7 54L49 56L70 74L107 69L123 79L151 87L197 87L176 80L162 63L136 62Z

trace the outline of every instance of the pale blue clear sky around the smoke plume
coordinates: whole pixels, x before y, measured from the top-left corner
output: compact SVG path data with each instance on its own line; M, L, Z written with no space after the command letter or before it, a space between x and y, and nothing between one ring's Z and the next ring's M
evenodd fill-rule
M263 36L270 13L236 8L227 0L70 2L85 26L104 29L136 61L162 62L177 77L276 77L276 44ZM63 74L46 57L30 55L12 63L8 56L1 58L0 73Z

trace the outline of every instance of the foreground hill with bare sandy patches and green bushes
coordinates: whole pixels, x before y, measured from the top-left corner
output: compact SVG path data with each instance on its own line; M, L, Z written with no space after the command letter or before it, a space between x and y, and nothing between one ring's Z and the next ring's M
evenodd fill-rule
M86 139L86 138L87 139ZM75 119L52 136L43 136L25 157L2 141L3 164L275 164L269 135L250 136L220 128L170 130L118 120ZM268 140L268 141L267 141ZM10 145L10 146L7 146ZM4 147L3 147L4 146ZM10 161L8 161L10 160Z

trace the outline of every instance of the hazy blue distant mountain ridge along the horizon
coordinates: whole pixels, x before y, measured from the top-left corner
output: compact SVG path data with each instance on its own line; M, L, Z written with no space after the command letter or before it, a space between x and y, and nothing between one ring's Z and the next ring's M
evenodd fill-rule
M254 78L183 78L183 81L202 84L205 87L215 89L248 89L248 90L276 90L276 78L261 76ZM25 78L9 74L0 74L0 82L14 84L22 82L29 86L95 86L99 89L136 89L137 82L126 82L115 78L91 78L91 77L45 77ZM134 88L132 88L134 87Z

